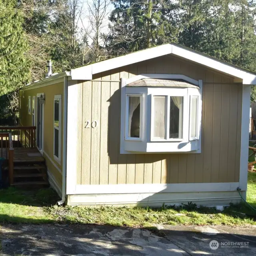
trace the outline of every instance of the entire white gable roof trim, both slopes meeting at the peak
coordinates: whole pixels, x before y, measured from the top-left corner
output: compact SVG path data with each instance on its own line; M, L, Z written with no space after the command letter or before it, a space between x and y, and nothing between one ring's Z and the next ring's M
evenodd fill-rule
M92 80L93 74L98 74L100 72L120 68L122 66L142 62L144 60L149 60L167 54L173 54L174 56L179 56L214 70L218 70L222 73L240 78L243 80L243 84L256 85L256 74L178 44L163 44L161 46L148 48L146 50L133 52L124 56L72 69L71 78L72 80Z

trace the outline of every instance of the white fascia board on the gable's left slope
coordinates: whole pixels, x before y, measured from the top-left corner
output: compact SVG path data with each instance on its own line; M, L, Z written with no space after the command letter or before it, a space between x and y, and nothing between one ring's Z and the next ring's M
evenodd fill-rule
M146 50L133 52L124 56L104 60L88 66L71 70L72 80L92 80L93 74L98 74L107 70L127 66L133 63L149 60L172 53L172 44L164 44Z

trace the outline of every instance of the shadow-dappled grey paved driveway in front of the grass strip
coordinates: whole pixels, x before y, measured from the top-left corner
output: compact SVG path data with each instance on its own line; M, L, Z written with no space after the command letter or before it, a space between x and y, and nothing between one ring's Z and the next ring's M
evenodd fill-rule
M209 233L210 230L210 233ZM215 231L212 231L215 230ZM240 229L239 229L240 230ZM237 234L225 227L164 226L156 236L150 230L96 225L2 224L2 256L83 256L83 255L256 255L256 232ZM250 234L246 234L246 232ZM219 247L212 250L212 240ZM247 248L222 248L221 242L248 242Z

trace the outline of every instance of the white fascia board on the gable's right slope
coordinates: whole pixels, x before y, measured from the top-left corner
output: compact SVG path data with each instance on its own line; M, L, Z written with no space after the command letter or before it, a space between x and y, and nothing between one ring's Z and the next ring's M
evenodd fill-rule
M243 84L256 84L256 75L250 74L249 72L241 70L240 68L232 66L228 63L223 63L222 61L214 59L210 56L208 57L202 54L198 54L193 50L184 49L183 47L177 45L172 46L172 54L187 60L192 60L198 64L202 64L206 67L224 72L228 75L241 78L243 79Z

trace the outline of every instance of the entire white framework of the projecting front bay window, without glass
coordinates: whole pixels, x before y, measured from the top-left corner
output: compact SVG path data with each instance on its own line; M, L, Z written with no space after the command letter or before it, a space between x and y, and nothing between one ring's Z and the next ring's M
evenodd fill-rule
M172 87L172 86L127 86L142 78L157 79L181 79L196 87ZM141 74L125 79L121 78L121 123L120 123L120 154L152 154L152 153L201 153L202 136L202 80L194 80L182 74ZM166 91L164 91L166 90ZM174 94L174 91L177 94ZM178 93L180 91L180 93ZM126 94L142 94L142 140L126 140ZM185 94L185 95L184 95ZM154 96L183 96L182 133L181 139L151 140L152 134L152 95ZM198 138L190 140L190 95L198 96ZM167 107L167 106L166 106ZM168 115L170 115L168 113ZM181 122L180 122L181 124ZM169 127L169 125L168 125ZM167 131L168 132L168 131ZM169 136L169 135L168 135Z

